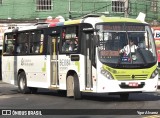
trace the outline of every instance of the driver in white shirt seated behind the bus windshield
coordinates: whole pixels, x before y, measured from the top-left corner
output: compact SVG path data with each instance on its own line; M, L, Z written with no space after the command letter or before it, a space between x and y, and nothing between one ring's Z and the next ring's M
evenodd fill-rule
M124 53L125 55L128 55L130 52L134 53L137 48L138 46L134 44L134 40L129 39L129 44L124 46L123 49L120 50L120 53Z

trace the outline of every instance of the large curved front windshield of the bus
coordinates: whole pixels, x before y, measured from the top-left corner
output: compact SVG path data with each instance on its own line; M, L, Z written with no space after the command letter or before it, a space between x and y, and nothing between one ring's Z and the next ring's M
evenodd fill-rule
M117 68L146 68L156 61L151 29L140 23L100 23L98 55L103 64Z

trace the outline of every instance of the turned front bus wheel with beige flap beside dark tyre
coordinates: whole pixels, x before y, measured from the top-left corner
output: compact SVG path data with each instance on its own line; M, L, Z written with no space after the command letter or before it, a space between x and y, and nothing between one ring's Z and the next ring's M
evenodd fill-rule
M76 74L67 77L67 97L74 97L75 100L81 99L79 81Z

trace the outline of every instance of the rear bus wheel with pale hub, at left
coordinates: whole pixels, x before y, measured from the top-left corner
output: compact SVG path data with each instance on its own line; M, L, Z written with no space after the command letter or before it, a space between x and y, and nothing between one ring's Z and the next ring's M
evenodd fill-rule
M23 94L30 93L30 89L27 87L25 72L21 72L18 75L18 89L20 93L23 93Z

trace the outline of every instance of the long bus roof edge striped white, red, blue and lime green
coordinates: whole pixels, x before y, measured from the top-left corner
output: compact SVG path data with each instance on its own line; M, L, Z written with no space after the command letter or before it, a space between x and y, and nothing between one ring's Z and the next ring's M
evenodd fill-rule
M88 19L88 20L87 20ZM40 28L47 28L47 27L56 27L56 26L65 26L65 25L71 25L71 24L80 24L80 23L90 23L92 25L95 25L95 23L103 23L103 22L130 22L130 23L143 23L147 24L146 22L142 22L137 19L132 18L124 18L124 17L105 17L105 16L99 16L99 17L85 17L84 19L78 19L78 20L68 20L64 22L53 22L53 23L39 23L33 26L25 26L17 28L17 31L24 31L24 30L32 30L32 29L40 29ZM15 29L14 29L15 30ZM14 32L14 30L6 30L6 32Z

